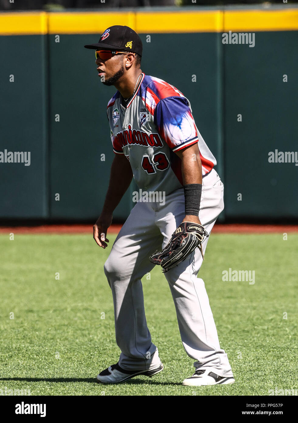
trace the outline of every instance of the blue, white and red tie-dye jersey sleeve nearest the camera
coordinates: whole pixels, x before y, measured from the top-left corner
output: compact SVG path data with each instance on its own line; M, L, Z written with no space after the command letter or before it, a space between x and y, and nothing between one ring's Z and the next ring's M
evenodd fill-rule
M154 124L172 151L179 151L198 142L194 118L185 97L166 97L157 103Z

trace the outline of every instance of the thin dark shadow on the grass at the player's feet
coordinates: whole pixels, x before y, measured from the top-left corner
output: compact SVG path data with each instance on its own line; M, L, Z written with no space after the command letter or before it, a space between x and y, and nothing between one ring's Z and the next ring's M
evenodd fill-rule
M41 378L41 377L0 377L0 380L6 380L6 381L19 381L19 382L87 382L87 383L95 383L96 385L114 385L112 383L98 383L96 382L95 378L70 378L70 377L60 377L60 378ZM143 380L143 379L130 379L125 382L121 382L120 384L115 385L122 385L124 383L127 383L129 385L139 385L148 383L149 385L181 385L181 383L176 382L156 382L154 380Z

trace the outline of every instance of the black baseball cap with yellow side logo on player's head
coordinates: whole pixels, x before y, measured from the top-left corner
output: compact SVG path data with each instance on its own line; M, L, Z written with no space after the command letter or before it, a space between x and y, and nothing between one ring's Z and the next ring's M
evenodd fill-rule
M86 49L117 49L131 51L142 55L143 44L138 34L127 26L113 25L108 27L96 44L87 44Z

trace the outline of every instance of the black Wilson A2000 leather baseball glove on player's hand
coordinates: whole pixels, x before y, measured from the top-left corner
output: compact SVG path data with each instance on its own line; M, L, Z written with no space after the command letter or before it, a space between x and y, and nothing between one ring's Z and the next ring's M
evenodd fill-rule
M198 223L182 222L172 234L168 245L158 253L157 251L149 257L154 264L160 264L163 272L168 272L173 266L184 261L196 247L200 248L204 260L202 242L208 237L205 228Z

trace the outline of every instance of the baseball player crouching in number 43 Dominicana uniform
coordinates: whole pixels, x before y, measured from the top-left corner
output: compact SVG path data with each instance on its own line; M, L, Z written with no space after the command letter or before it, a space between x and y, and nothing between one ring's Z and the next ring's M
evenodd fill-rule
M141 278L155 265L171 289L182 344L195 372L182 385L235 382L220 348L208 295L198 272L208 236L224 208L223 184L192 116L189 100L173 85L141 70L142 42L127 26L107 28L95 49L98 76L117 92L107 115L115 153L103 210L93 227L106 248L112 215L132 178L142 194L104 265L113 294L119 361L98 376L124 382L163 370L144 312Z

